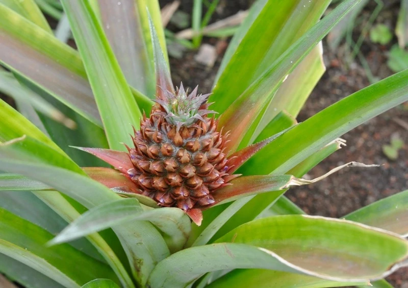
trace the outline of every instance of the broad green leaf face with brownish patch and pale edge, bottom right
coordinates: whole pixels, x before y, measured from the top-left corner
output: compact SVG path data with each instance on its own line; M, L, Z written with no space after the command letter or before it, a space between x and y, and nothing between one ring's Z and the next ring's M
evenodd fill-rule
M309 215L252 221L217 240L230 241L275 251L299 267L349 279L382 278L380 275L385 275L385 271L395 269L390 268L393 263L406 257L408 244L402 237L366 225Z

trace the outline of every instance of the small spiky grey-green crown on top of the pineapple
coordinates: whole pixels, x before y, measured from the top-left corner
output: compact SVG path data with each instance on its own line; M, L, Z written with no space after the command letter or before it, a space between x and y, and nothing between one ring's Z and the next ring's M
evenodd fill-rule
M198 85L188 94L184 90L183 83L180 88L176 88L173 93L167 89L163 89L161 99L156 99L155 102L166 111L165 118L167 121L177 128L177 131L182 127L190 127L198 120L203 121L202 116L209 113L217 113L207 108L211 103L207 103L210 94L197 95Z

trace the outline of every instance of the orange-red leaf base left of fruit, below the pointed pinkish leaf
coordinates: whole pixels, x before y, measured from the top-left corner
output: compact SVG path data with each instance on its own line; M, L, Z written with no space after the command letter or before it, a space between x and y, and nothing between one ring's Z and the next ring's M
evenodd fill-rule
M136 184L115 169L106 167L83 167L82 170L93 180L104 184L108 188L123 187L124 191L139 193Z

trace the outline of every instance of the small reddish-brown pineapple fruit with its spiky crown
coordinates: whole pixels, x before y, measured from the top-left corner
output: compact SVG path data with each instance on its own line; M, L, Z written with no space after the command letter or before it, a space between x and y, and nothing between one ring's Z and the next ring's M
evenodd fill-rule
M128 176L141 194L160 206L185 211L215 202L212 193L235 177L228 175L225 142L217 120L208 114L210 94L162 89L151 115L135 131L129 148L134 168Z

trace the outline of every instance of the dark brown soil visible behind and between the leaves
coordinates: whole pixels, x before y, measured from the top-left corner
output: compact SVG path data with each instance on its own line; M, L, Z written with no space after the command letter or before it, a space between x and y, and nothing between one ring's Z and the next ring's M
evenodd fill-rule
M161 1L161 3L166 2L168 1ZM228 3L228 5L220 9L215 18L230 16L248 7L245 5L248 4L246 1L239 1L236 6L231 6L230 1L221 0L220 3ZM368 6L361 16L362 21L373 8L372 5ZM191 2L182 1L181 9L190 13ZM397 13L398 5L395 5L395 2L387 2L377 20L392 22L395 25ZM355 37L360 35L358 28L355 29L354 34ZM205 41L222 46L225 40L205 38ZM393 43L395 42L396 39L393 39ZM390 46L391 44L379 46L365 39L361 47L373 75L380 79L393 74L386 65L387 51ZM370 84L366 70L358 61L345 62L345 48L346 44L343 44L337 51L330 52L324 42L324 61L327 70L300 112L298 121L304 121L325 107ZM207 92L212 87L222 55L218 57L213 68L207 68L194 61L195 54L196 52L188 52L182 59L170 59L173 81L175 85L183 81L184 85L189 87L198 84L200 91ZM307 176L318 177L349 161L382 164L380 167L345 169L318 183L292 188L286 196L309 214L339 218L381 198L407 189L408 133L406 129L394 122L395 118L408 122L407 110L406 104L400 105L343 135L342 138L347 140L347 147L328 157ZM398 135L405 143L395 161L388 159L382 152L382 146L389 144L393 135ZM387 280L395 287L407 287L408 269L400 269Z

